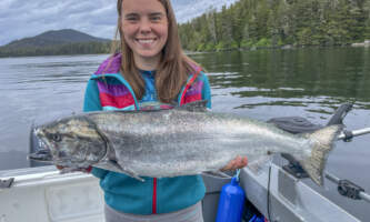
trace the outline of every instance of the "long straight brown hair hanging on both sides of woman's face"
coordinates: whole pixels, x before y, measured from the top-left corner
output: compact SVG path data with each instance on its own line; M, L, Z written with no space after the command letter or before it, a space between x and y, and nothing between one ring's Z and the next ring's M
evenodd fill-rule
M144 81L134 65L133 52L126 43L123 38L122 26L122 1L117 1L118 24L116 38L112 42L111 53L118 50L117 36L120 34L120 50L122 53L121 73L130 83L136 97L141 99L144 93ZM191 63L197 64L187 57L181 48L178 33L178 24L170 0L158 0L166 9L168 19L168 39L162 49L162 58L156 72L156 89L158 100L171 103L180 93L181 88L186 84L190 73L194 72Z

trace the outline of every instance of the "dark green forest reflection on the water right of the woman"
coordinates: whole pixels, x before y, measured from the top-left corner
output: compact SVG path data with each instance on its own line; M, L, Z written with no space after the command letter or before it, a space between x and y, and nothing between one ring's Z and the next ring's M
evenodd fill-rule
M319 101L321 105L352 101L369 109L369 49L236 51L194 58L212 73L213 88L233 89L233 97L296 98L298 103L301 99L326 97ZM246 101L243 105L250 108L251 103ZM277 105L274 102L271 105Z

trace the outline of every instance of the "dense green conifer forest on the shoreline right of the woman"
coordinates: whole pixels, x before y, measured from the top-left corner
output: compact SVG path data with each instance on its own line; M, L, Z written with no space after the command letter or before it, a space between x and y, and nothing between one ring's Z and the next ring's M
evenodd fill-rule
M179 29L190 51L346 46L370 40L370 0L240 0Z

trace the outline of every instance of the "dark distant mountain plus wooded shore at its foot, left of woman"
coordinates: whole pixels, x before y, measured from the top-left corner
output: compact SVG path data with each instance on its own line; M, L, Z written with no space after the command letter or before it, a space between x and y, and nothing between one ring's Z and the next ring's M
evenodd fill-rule
M47 31L0 47L0 57L109 53L110 41L72 29Z

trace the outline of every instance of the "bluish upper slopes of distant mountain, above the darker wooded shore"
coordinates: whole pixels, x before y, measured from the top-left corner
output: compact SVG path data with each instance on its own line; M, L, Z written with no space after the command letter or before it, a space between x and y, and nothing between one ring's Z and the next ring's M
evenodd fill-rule
M52 30L39 36L16 40L4 46L8 49L51 47L67 43L82 42L108 42L108 39L101 39L72 29Z

